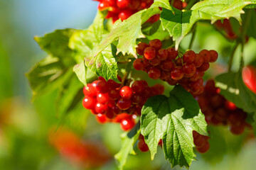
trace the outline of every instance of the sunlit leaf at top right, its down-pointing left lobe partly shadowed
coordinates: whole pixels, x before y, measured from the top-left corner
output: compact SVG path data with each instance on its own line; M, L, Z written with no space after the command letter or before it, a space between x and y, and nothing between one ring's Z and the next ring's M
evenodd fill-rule
M210 20L211 23L214 23L217 20L230 17L241 21L242 8L247 4L250 2L244 0L206 0L196 3L189 11L179 11L173 7L170 11L163 8L161 21L164 30L168 30L176 41L176 49L178 49L179 43L190 32L196 21Z

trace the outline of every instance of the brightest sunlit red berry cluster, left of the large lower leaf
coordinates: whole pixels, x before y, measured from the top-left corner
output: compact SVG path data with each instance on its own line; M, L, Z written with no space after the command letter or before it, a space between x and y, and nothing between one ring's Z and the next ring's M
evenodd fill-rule
M120 77L118 79L122 81ZM163 94L164 86L156 84L149 87L144 80L134 81L131 87L122 86L112 79L106 81L99 77L92 84L87 84L83 93L82 106L90 109L100 123L120 123L123 130L130 130L147 99Z

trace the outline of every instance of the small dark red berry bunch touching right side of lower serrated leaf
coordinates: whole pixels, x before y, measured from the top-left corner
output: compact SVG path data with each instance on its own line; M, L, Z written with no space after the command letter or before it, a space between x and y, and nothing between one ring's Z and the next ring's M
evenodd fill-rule
M196 149L201 154L208 152L210 149L209 138L208 136L200 135L198 132L193 131L193 142L196 145Z

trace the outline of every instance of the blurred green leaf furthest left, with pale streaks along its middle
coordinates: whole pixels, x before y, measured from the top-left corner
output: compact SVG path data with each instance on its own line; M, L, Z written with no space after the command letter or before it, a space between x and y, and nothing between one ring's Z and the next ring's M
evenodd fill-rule
M48 56L26 74L33 91L33 98L46 94L67 81L72 69L65 68L58 57Z

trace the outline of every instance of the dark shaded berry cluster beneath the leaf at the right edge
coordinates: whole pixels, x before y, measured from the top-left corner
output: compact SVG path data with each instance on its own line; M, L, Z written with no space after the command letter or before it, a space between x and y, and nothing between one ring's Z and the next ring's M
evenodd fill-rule
M209 125L229 125L230 132L240 135L245 127L247 113L237 108L234 103L221 96L220 89L215 87L213 80L208 80L203 94L196 96L201 111Z

